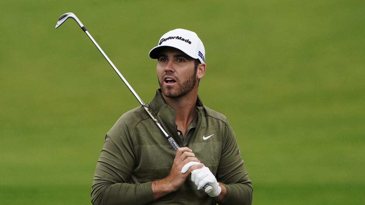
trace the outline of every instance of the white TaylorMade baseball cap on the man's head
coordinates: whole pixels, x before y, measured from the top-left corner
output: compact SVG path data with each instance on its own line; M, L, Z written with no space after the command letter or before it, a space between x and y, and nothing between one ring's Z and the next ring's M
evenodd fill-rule
M201 63L205 61L205 49L203 42L195 32L177 28L164 34L158 41L158 45L150 51L150 58L157 59L163 47L170 46L183 51Z

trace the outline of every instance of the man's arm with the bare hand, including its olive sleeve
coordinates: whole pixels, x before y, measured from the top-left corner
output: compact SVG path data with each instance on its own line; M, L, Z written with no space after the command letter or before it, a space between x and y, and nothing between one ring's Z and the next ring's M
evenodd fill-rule
M135 167L133 133L124 120L119 119L105 137L96 165L92 185L93 204L147 204L179 189L193 169L185 174L180 170L189 161L199 160L187 147L179 148L170 174L161 180L141 184L128 183Z

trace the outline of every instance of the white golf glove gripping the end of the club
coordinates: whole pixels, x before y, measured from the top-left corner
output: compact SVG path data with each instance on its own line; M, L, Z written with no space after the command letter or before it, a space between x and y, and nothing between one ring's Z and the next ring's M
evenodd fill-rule
M207 194L211 197L218 196L222 191L213 173L205 166L191 172L191 181L195 183L198 189L203 188L205 184L209 183L213 189Z

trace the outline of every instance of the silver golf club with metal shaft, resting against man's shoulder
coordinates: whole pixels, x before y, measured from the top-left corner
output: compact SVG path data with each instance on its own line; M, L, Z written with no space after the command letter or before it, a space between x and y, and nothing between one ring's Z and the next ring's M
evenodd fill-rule
M59 26L62 25L62 23L64 23L67 19L72 18L74 19L77 24L81 27L82 31L84 31L86 33L86 35L89 36L89 38L91 39L91 41L94 43L94 45L97 47L97 49L99 49L100 53L103 54L104 58L107 59L108 63L113 67L113 69L115 70L115 72L118 74L118 76L123 80L124 84L127 85L128 89L133 93L134 97L137 98L138 102L142 105L142 107L145 109L145 111L149 114L149 116L152 118L152 120L155 122L155 124L157 125L158 128L160 128L161 132L165 135L166 139L168 140L169 144L171 145L171 147L177 151L177 149L179 148L179 146L177 145L177 143L175 142L175 140L169 136L167 134L167 132L165 131L164 128L162 128L161 123L156 119L155 115L150 111L150 109L147 108L147 106L145 105L145 103L141 100L141 98L138 96L138 94L134 91L134 89L131 87L131 85L129 85L129 83L127 82L127 80L123 77L123 75L119 72L119 70L115 67L115 65L111 62L111 60L108 58L108 56L104 53L104 51L100 48L100 46L96 43L96 41L94 40L94 38L89 34L89 32L86 30L85 26L81 23L81 21L76 17L76 15L74 13L65 13L64 15L61 15L58 18L58 22L56 24L55 28L58 28ZM205 193L209 193L213 188L210 184L205 184L203 187Z

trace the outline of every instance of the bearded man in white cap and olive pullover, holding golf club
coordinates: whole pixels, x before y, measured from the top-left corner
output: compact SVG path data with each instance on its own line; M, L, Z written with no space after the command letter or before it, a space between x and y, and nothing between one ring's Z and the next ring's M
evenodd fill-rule
M149 55L157 59L160 89L147 106L181 148L174 152L142 107L124 113L105 136L92 203L251 204L234 132L197 95L206 68L201 40L172 30ZM205 193L207 183L212 190Z

